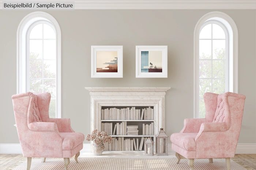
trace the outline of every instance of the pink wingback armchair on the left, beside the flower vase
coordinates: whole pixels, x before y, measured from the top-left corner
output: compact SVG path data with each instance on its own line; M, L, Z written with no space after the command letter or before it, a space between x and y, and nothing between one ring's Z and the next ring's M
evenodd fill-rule
M27 170L31 157L64 158L67 170L69 158L75 161L83 148L84 135L75 132L70 119L49 118L50 93L31 92L12 96L15 122L23 157L27 157Z

